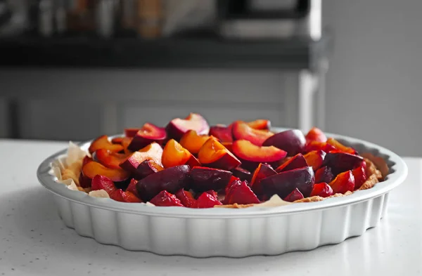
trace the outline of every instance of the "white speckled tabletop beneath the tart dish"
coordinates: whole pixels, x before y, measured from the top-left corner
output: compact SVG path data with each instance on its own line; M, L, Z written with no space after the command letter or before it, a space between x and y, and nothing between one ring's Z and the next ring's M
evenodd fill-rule
M422 159L390 194L377 228L281 256L189 258L125 251L66 228L36 169L67 143L0 140L1 275L421 275Z

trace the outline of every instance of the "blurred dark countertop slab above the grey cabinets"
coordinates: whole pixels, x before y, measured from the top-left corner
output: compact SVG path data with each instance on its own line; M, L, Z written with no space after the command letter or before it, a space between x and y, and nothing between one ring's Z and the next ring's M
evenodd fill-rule
M229 41L219 37L0 39L2 67L312 69L327 39Z

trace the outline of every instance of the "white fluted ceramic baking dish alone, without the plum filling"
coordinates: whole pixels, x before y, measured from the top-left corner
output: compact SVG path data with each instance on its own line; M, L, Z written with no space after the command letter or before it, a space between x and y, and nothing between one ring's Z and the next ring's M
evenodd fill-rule
M331 133L327 136L358 152L383 157L389 167L388 176L373 188L346 197L245 209L147 206L90 197L56 183L49 173L51 162L65 155L65 150L44 160L37 176L53 192L65 225L102 244L162 255L277 255L337 244L362 235L366 229L378 225L388 205L390 190L407 176L406 164L390 150L356 138ZM81 147L86 150L90 142Z

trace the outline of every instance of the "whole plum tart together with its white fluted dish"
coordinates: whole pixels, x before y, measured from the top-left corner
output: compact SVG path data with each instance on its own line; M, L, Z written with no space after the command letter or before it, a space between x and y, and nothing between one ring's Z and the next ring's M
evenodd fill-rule
M200 114L57 152L37 176L60 218L102 244L193 257L277 255L375 227L407 166L379 145Z

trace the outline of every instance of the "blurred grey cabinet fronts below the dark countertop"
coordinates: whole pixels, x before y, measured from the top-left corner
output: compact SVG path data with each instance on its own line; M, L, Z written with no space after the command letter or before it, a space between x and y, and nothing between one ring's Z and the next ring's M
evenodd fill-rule
M260 117L294 125L297 103L285 96L286 86L297 91L295 78L277 70L0 70L0 92L20 99L24 138L86 140L189 112L210 124Z

